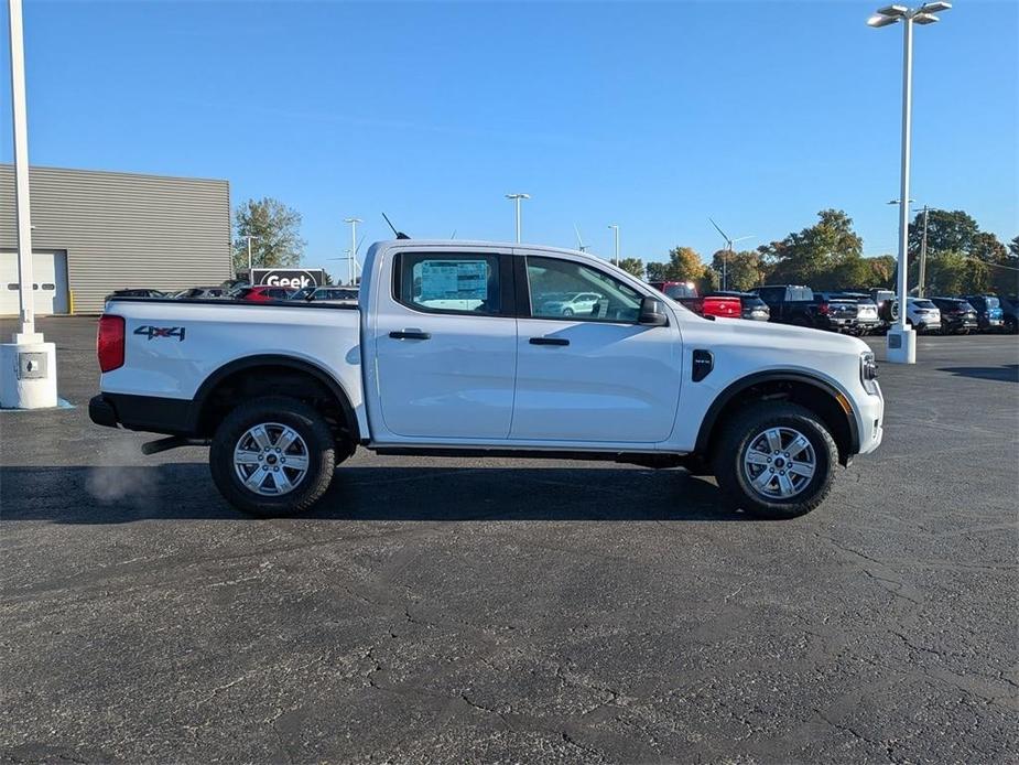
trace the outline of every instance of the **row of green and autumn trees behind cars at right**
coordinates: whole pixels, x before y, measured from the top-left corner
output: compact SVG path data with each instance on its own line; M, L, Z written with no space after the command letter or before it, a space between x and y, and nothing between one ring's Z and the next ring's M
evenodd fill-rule
M919 281L923 213L909 226L908 280ZM928 211L925 294L1019 293L1019 236L1008 246L963 211ZM841 209L823 209L817 223L755 250L716 251L711 262L691 247L674 247L665 261L626 258L619 266L648 281L692 281L702 292L746 291L765 283L807 284L815 290L892 288L897 259L865 258L853 219Z

